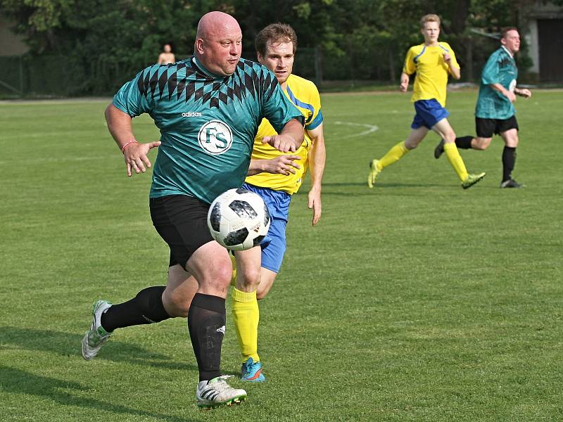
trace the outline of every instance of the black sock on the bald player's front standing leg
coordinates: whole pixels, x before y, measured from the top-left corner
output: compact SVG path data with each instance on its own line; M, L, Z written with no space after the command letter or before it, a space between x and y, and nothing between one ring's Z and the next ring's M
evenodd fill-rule
M189 307L188 328L198 361L199 381L209 381L221 375L225 321L223 298L196 293Z

